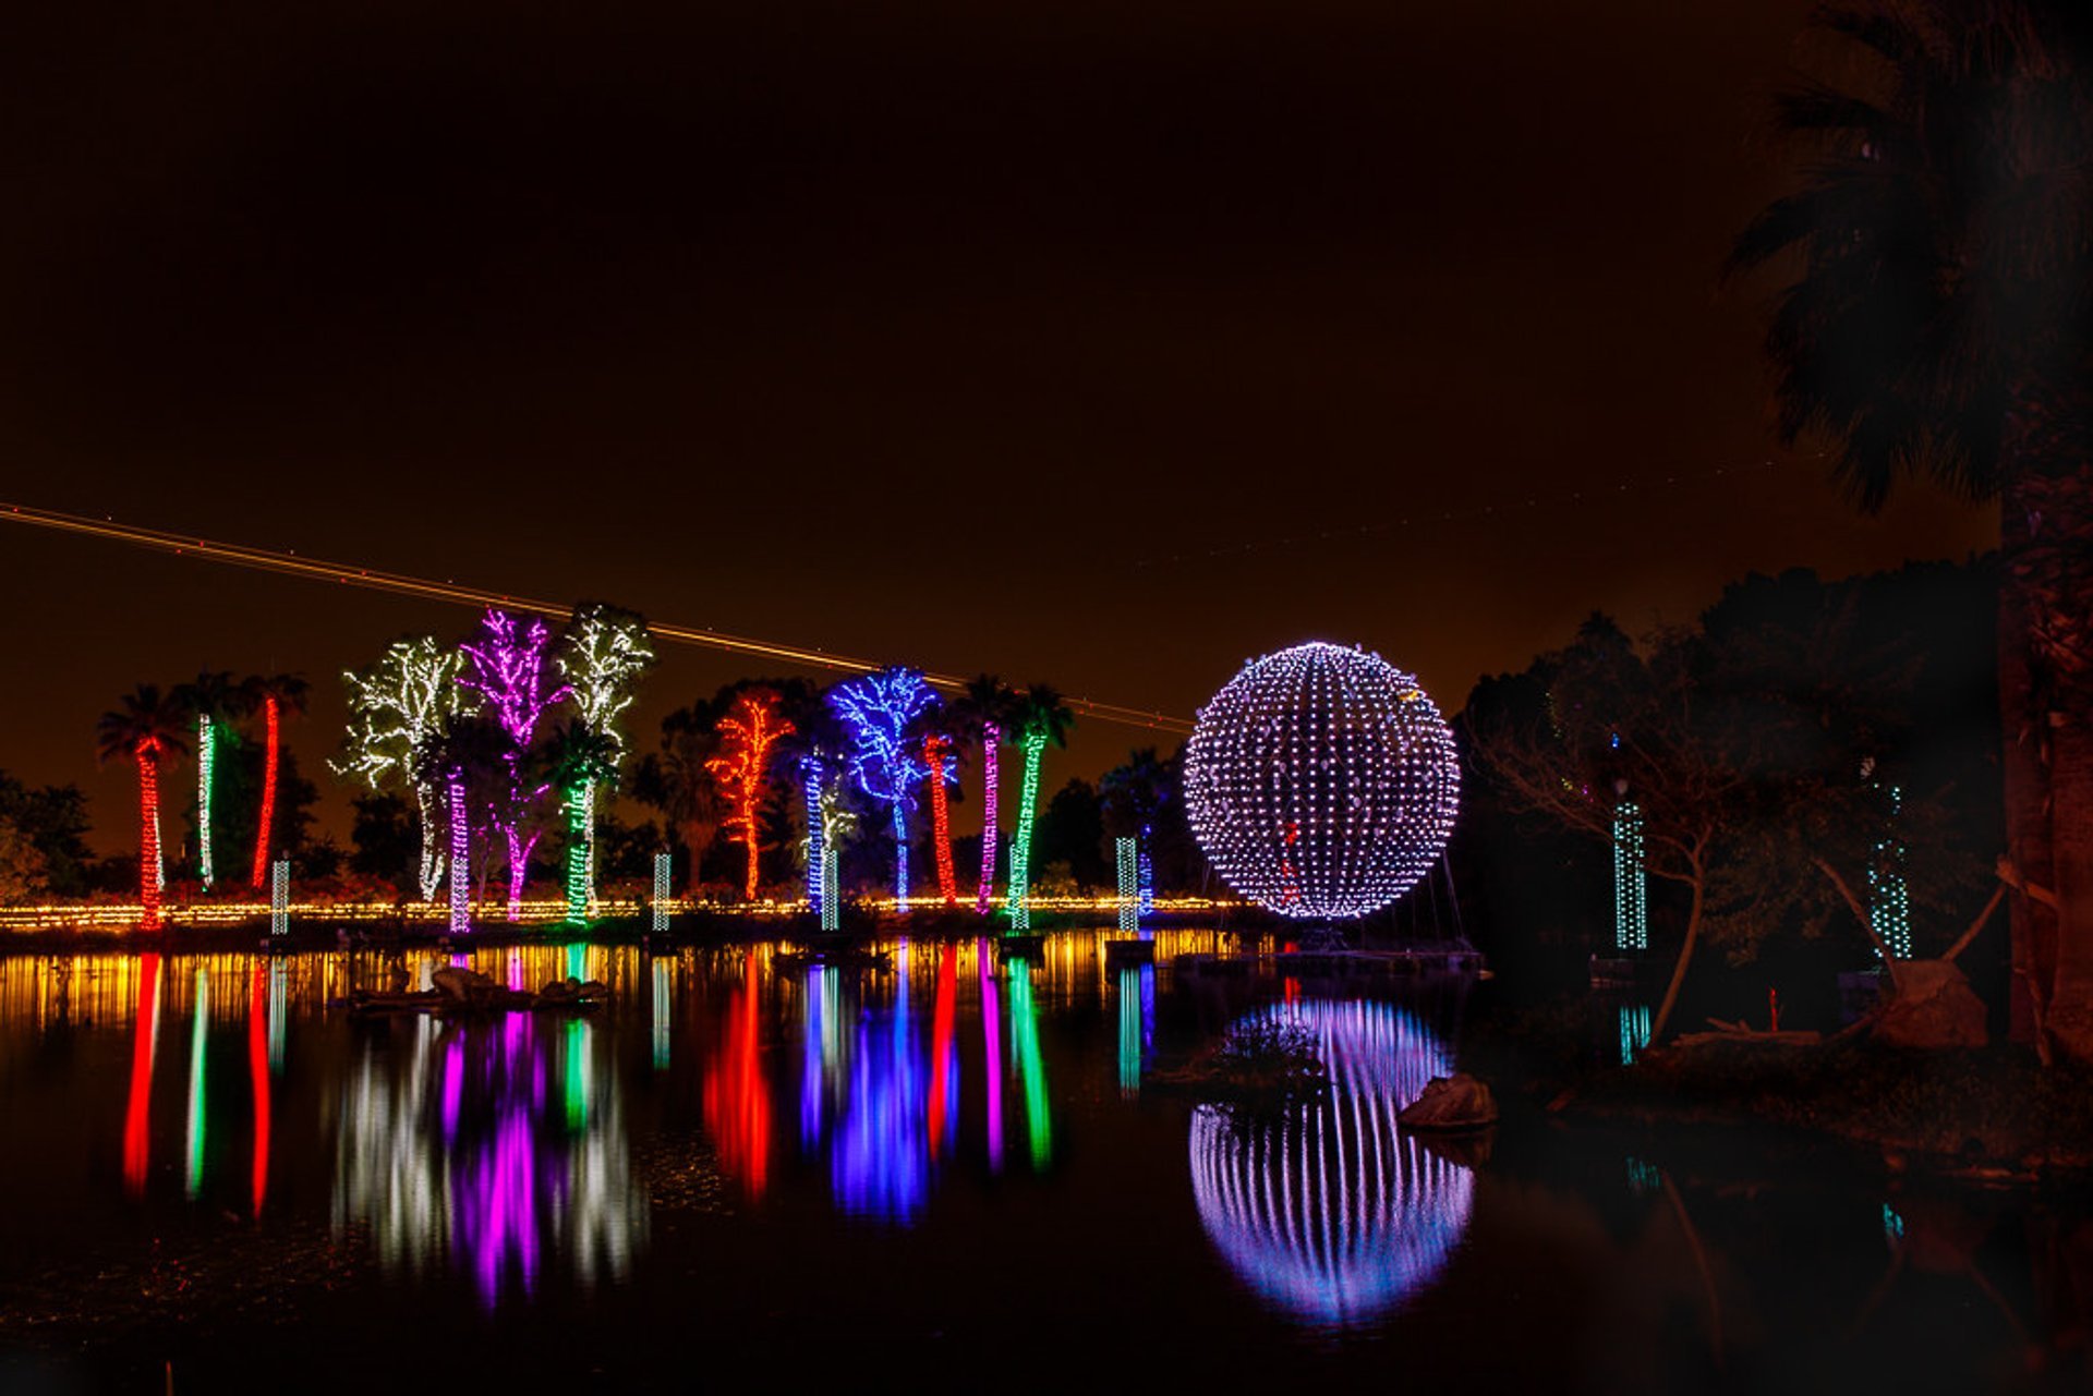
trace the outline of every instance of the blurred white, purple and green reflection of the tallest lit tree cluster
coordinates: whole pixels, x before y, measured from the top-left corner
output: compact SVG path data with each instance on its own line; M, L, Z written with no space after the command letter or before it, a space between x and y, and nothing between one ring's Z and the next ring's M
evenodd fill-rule
M582 1019L396 1023L362 1044L339 1116L335 1229L368 1226L387 1270L448 1260L494 1306L536 1293L548 1254L590 1287L647 1241L617 1076Z

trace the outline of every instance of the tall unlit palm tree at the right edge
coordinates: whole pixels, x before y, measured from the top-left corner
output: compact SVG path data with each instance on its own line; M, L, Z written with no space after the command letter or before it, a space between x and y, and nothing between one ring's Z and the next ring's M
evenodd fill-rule
M1785 440L1875 511L1923 473L1997 500L2013 1028L2093 1059L2093 54L2080 6L1890 0L1817 23L1871 61L1777 119L1800 190L1731 268L1792 255L1766 352Z

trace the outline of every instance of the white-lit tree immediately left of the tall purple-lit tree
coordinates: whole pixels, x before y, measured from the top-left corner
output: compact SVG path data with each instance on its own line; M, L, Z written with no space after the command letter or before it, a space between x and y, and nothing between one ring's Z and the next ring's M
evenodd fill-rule
M458 712L458 668L465 657L433 636L396 640L368 670L343 670L350 689L350 730L339 776L360 776L370 789L404 785L414 791L421 818L421 900L433 902L444 885L444 856L435 846L433 789L414 779L414 751L442 733Z

